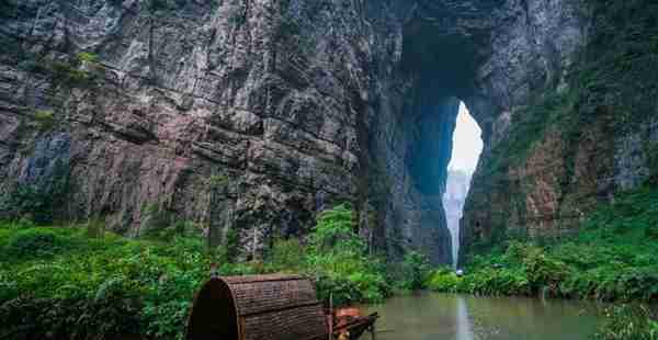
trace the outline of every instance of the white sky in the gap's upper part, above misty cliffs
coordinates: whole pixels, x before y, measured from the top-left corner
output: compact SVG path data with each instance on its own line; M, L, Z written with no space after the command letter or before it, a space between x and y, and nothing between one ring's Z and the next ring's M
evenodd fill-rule
M460 104L457 125L453 135L453 150L449 169L475 171L477 160L483 151L483 131L470 116L466 105Z

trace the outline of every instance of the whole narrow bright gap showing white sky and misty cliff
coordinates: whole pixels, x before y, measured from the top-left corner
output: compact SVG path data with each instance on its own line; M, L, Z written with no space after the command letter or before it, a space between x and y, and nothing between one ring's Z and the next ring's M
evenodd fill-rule
M452 136L452 151L443 193L443 208L452 240L454 268L457 267L460 251L460 222L470 190L470 180L484 148L481 135L483 131L477 121L470 115L466 104L461 102Z

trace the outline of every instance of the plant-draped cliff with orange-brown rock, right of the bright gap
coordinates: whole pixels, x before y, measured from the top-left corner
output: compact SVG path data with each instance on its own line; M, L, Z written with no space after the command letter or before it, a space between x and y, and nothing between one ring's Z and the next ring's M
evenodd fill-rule
M658 5L579 9L577 53L555 59L558 73L494 123L462 220L465 252L510 236L569 237L595 204L655 184ZM576 32L566 27L561 36Z

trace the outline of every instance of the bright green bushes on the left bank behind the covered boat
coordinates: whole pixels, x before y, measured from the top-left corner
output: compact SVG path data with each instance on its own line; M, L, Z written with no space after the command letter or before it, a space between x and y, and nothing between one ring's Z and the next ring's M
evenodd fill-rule
M382 261L365 256L353 212L339 205L318 217L308 245L280 240L264 262L211 256L198 227L177 223L146 239L103 231L99 219L76 227L0 224L0 338L95 339L138 335L181 338L193 294L212 262L222 275L295 272L317 281L336 304L379 302L393 287ZM410 272L419 272L413 256Z

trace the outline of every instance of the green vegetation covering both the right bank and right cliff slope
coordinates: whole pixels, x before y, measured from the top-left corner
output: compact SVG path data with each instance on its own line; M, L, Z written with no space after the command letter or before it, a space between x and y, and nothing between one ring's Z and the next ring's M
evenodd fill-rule
M524 188L532 178L510 182L509 169L523 167L537 143L555 133L564 145L566 170L560 178L563 199L577 194L575 158L587 128L604 137L608 132L642 134L655 118L658 95L658 7L648 0L591 1L592 30L588 46L568 73L566 90L555 79L535 92L526 107L512 115L507 138L483 159L484 175L506 193L509 204L492 214L492 235L472 245L466 274L433 271L426 285L438 292L486 295L526 295L599 301L658 302L658 190L656 146L644 154L651 171L647 186L615 196L582 223L578 236L566 239L529 239L510 235L506 215L523 212ZM610 48L610 46L615 46ZM637 95L642 93L642 95ZM613 141L602 138L600 152L613 152ZM602 165L604 167L604 165ZM612 171L611 169L605 169ZM600 170L602 171L602 170ZM650 186L653 185L653 188ZM518 202L517 202L518 201ZM593 203L593 202L592 202ZM590 203L579 202L580 206ZM600 339L657 339L656 315L647 308L616 307L608 314Z

